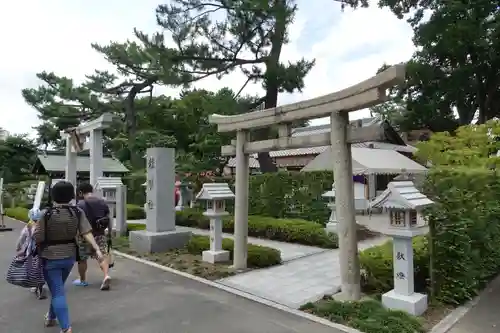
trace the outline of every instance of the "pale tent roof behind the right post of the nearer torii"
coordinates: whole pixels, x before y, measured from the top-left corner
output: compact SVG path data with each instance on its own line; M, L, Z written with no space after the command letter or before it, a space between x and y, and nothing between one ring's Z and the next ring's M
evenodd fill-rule
M427 168L394 150L351 148L352 171L355 175L368 174L423 174ZM333 170L332 149L316 156L301 171Z

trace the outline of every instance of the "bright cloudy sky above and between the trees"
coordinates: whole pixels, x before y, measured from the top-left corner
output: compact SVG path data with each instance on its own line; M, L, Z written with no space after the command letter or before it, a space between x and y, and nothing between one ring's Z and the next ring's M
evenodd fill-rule
M36 73L55 72L77 81L95 69L112 70L90 44L133 39L133 29L160 31L155 8L164 0L21 0L0 11L3 51L0 52L0 127L11 133L35 136L37 112L24 102L21 90L36 88ZM305 78L305 89L279 96L279 104L310 99L346 88L373 76L384 63L408 60L414 52L412 31L376 3L368 9L343 12L333 0L298 0L299 11L290 27L290 43L281 60L316 59ZM238 90L245 79L235 73L222 80L207 78L198 88ZM156 94L175 96L175 89ZM245 94L262 93L259 85ZM368 117L368 110L351 113L351 119ZM328 122L317 119L312 124Z

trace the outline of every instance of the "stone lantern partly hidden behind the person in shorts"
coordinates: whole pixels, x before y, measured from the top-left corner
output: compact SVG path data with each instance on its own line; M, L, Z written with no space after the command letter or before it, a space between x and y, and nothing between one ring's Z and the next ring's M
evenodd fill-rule
M122 183L121 178L99 177L95 191L108 204L112 221L110 231L114 230L120 236L125 235L127 233L127 187Z

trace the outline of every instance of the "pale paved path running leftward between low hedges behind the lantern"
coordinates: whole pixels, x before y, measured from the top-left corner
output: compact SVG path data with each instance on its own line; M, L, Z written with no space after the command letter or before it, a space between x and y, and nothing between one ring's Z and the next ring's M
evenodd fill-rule
M128 221L128 223L145 224L146 220L130 220L130 221ZM193 234L203 235L203 236L209 235L209 233L210 233L209 230L188 228L188 227L181 227L181 226L177 226L177 229L191 231ZM222 236L224 238L234 239L234 235L232 235L232 234L223 233ZM272 240L262 239L262 238L255 238L255 237L248 237L248 243L254 244L254 245L267 246L267 247L270 247L273 249L280 250L281 251L281 259L283 262L287 262L290 260L307 257L307 256L310 256L310 255L313 255L316 253L328 251L327 249L322 249L319 247L307 246L307 245L302 245L302 244L277 242L277 241L272 241Z

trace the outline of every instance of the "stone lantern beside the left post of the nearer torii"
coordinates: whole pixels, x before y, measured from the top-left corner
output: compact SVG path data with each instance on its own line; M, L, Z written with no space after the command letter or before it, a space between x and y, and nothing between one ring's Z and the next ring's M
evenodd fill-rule
M203 251L202 260L216 263L229 260L229 251L222 249L222 217L229 215L226 212L226 200L234 199L234 193L227 183L203 184L196 200L206 202L206 211L203 213L210 218L210 250Z

